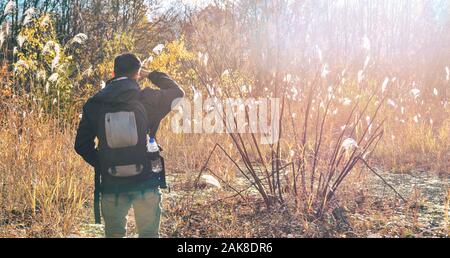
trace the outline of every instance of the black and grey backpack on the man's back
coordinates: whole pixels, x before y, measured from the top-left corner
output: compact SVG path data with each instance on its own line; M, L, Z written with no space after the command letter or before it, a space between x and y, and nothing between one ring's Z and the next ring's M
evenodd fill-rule
M155 177L146 148L149 122L138 100L102 103L97 128L102 192L124 192Z

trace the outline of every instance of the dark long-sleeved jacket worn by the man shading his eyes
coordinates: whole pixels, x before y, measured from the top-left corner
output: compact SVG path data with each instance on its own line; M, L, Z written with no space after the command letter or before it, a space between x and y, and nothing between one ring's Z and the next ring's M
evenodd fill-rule
M184 91L168 75L161 72L152 72L149 75L151 82L159 90L145 88L130 79L111 80L106 87L91 97L83 107L83 115L75 139L75 151L94 168L99 166L99 158L95 147L97 137L97 121L102 102L127 102L139 99L144 105L152 127L150 134L156 135L161 120L171 111L172 102L184 96Z

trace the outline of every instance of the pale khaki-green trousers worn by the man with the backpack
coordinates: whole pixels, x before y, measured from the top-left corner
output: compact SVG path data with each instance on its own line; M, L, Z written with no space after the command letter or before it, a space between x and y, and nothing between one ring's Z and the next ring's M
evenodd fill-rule
M127 214L131 207L139 237L159 238L161 192L158 188L118 195L103 194L101 203L107 238L126 236Z

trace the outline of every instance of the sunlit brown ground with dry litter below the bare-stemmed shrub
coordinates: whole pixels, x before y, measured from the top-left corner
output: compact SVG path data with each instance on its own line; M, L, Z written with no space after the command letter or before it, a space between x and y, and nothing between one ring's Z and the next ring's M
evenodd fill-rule
M378 177L360 178L356 194L322 221L308 221L300 213L278 207L268 212L239 199L217 199L231 192L203 185L193 196L183 190L186 175L164 193L162 237L448 237L450 177L426 172L382 173L408 202L402 202ZM172 179L173 180L173 179ZM363 183L366 182L366 183ZM344 193L342 194L349 194ZM193 200L193 201L191 201ZM254 200L255 203L258 200ZM211 205L214 204L214 205ZM86 217L69 237L102 237L103 226ZM128 237L137 237L133 212Z

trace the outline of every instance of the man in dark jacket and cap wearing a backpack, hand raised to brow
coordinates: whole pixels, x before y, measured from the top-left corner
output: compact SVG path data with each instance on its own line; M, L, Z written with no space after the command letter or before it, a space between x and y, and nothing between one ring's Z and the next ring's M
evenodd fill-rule
M159 237L160 184L149 171L146 136L156 135L172 102L183 97L184 92L166 74L141 69L134 54L118 56L114 74L105 88L84 105L75 150L95 168L106 237L126 235L126 216L131 206L139 237ZM137 82L141 78L148 78L159 90L140 89Z

